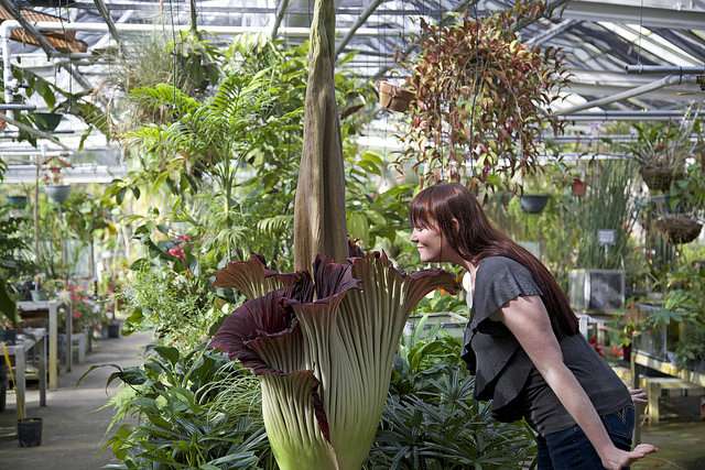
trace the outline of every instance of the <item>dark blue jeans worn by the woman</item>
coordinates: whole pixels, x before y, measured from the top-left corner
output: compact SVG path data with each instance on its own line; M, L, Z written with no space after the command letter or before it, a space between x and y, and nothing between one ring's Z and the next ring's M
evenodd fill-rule
M631 450L634 408L625 408L601 416L605 428L617 448ZM538 470L603 470L603 463L579 426L538 436Z

